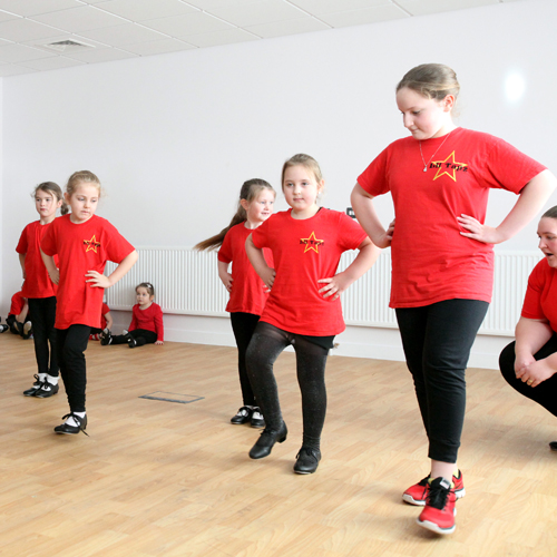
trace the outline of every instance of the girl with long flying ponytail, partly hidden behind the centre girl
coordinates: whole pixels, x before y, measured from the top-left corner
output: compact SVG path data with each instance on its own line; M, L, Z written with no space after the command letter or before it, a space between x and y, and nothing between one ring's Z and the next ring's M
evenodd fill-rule
M245 241L251 232L262 225L273 213L276 193L264 179L248 179L240 190L236 214L231 224L215 236L199 242L196 250L218 251L218 276L231 293L226 311L231 314L232 330L238 348L238 374L244 405L232 417L231 423L250 423L252 428L265 427L247 375L245 352L267 299L267 287L247 260ZM267 250L265 257L272 264ZM232 263L232 274L228 272Z

